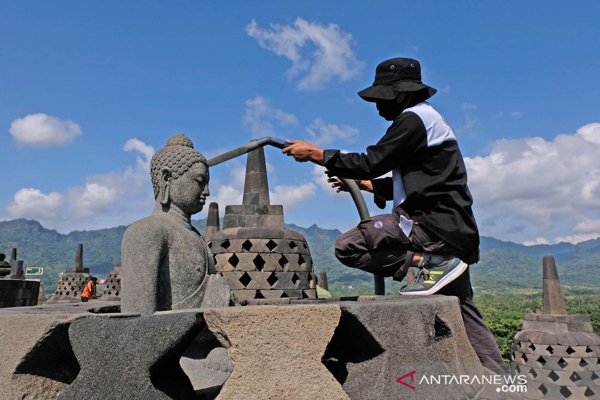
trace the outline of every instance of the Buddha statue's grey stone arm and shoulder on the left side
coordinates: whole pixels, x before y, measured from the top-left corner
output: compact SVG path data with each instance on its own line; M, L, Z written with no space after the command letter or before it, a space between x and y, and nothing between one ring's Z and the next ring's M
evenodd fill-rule
M157 311L158 272L166 251L166 238L158 234L151 222L135 222L123 236L121 312L152 314Z

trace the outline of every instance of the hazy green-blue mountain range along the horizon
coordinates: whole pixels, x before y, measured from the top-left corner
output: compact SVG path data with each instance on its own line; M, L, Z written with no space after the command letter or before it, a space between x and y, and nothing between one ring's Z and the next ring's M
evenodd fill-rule
M206 219L192 221L203 232ZM62 234L44 228L33 219L0 222L0 251L9 254L17 248L17 258L25 266L46 267L42 281L46 293L55 290L60 272L73 265L77 243L83 243L83 263L92 274L108 275L121 262L121 239L126 226ZM361 270L343 266L333 254L337 229L324 229L316 224L308 228L287 224L286 228L306 237L313 257L315 272L325 271L329 288L335 294L373 293L373 277ZM481 237L481 260L470 267L474 287L500 291L510 288L540 288L544 255L554 255L563 285L600 286L600 239L556 245L524 246L493 237ZM387 279L388 293L400 288L400 282Z

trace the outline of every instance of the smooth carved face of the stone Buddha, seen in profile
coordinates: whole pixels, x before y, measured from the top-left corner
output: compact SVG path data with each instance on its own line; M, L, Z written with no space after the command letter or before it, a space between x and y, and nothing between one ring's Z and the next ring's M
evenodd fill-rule
M184 212L193 215L202 211L208 190L208 167L203 163L195 163L177 179L168 179L169 172L163 173L163 179L169 185L169 200Z

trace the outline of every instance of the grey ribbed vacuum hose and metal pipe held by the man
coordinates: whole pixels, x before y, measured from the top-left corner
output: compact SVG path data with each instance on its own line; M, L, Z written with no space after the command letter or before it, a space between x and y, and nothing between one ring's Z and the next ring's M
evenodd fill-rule
M217 157L209 158L208 166L216 166L217 164L224 163L227 160L231 160L232 158L239 157L251 151L254 151L263 146L270 145L279 149L284 149L287 146L290 146L291 143L287 143L285 140L278 139L277 137L266 136L262 139L252 140L250 143L244 146L239 146L239 148L235 148L226 153L217 155ZM361 190L358 188L358 185L354 181L354 179L340 178L340 181L346 185L350 196L352 196L352 200L354 201L354 205L356 206L356 210L358 210L358 215L361 218L361 221L365 221L371 218L369 213L369 209L367 207L367 203L365 203L365 198L362 196ZM383 295L385 294L385 281L383 280L382 275L374 275L375 279L375 294Z

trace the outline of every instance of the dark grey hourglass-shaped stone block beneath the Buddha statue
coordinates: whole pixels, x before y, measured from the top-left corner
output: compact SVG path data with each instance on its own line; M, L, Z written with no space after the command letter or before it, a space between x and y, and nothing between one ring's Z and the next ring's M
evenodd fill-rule
M59 400L194 398L179 359L202 327L199 311L75 321L69 338L82 369Z

